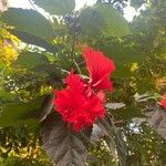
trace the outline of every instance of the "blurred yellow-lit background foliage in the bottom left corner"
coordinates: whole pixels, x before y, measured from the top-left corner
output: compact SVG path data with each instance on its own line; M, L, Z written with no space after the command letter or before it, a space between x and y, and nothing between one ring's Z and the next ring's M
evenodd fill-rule
M50 166L39 138L27 126L0 128L1 166Z

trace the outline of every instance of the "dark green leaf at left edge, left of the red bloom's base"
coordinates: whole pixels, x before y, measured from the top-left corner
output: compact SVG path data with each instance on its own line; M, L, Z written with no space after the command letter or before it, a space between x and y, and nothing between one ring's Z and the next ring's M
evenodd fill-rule
M7 104L0 110L0 126L33 122L41 112L43 97L35 98L29 103Z

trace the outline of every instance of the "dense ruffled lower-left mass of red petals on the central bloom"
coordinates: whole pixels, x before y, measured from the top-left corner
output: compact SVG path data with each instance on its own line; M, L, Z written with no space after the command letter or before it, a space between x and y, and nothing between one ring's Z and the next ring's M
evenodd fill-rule
M86 84L77 74L71 73L65 81L66 89L54 92L55 111L62 115L63 121L79 132L91 126L97 117L104 117L105 108L101 100L94 93L87 95Z

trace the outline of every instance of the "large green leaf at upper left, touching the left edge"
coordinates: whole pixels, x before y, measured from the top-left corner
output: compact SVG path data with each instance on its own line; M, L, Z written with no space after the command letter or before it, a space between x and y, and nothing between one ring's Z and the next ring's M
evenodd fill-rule
M35 10L10 8L3 12L0 18L8 25L14 27L19 31L23 31L42 39L52 39L53 29L49 21Z

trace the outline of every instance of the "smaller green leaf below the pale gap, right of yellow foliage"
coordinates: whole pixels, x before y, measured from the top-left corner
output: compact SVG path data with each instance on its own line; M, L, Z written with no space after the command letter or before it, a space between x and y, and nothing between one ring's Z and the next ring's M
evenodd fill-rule
M29 70L32 70L39 65L44 66L48 63L49 61L45 55L37 52L22 52L17 60L17 64Z

